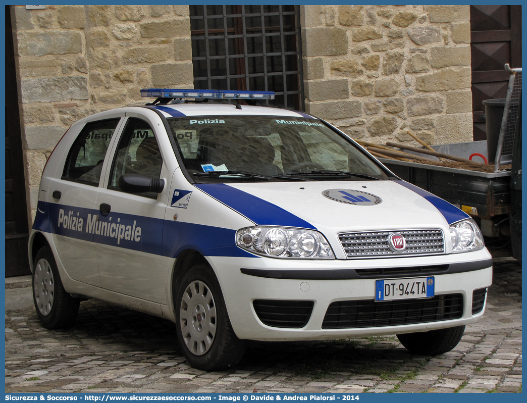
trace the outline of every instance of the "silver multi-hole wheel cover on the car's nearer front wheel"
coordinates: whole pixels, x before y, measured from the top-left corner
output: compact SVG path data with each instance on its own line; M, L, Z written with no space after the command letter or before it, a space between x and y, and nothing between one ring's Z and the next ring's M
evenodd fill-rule
M216 304L212 292L202 281L190 283L181 297L180 326L183 340L196 356L212 347L216 337Z

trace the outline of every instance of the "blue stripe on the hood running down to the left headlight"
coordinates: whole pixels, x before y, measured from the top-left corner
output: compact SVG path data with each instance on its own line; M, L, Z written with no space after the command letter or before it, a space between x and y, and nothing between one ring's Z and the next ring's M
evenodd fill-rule
M194 185L208 195L249 218L257 225L316 229L307 221L275 204L226 184Z

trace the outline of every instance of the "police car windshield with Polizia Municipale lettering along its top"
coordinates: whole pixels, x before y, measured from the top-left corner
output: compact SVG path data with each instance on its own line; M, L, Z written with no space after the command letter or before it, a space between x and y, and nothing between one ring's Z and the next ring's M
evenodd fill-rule
M224 115L168 122L185 168L199 182L387 179L317 119Z

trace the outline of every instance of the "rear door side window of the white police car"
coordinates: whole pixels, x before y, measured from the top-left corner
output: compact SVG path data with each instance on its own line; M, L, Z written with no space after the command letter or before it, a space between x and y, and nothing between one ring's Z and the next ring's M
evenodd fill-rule
M98 186L106 150L120 118L84 126L68 154L62 179Z

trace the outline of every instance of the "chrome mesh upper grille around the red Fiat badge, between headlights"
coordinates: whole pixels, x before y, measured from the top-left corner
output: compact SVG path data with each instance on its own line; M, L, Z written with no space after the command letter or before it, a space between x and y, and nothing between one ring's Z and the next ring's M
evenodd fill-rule
M394 252L388 246L388 236L399 233L406 239L406 249ZM348 259L431 255L445 252L443 232L439 229L413 231L376 231L338 234Z

